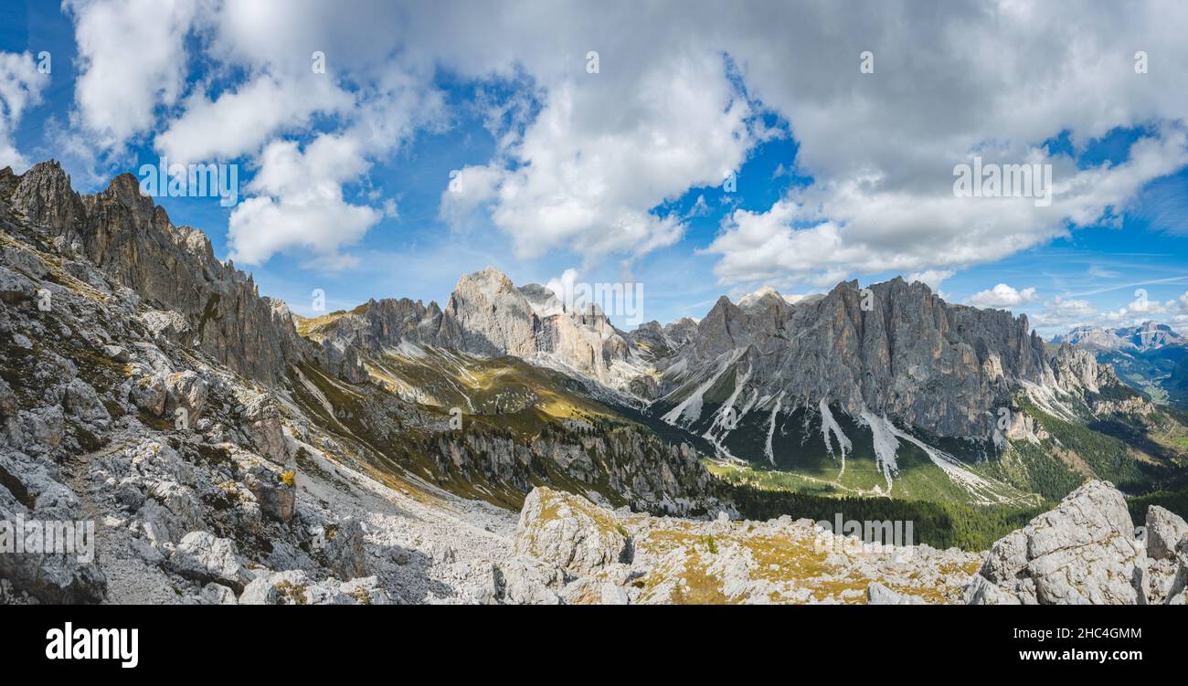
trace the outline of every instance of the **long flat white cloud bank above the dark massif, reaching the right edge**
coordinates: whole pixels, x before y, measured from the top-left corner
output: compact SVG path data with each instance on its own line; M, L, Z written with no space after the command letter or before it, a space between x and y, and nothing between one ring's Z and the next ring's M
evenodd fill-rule
M714 272L723 284L757 273L819 282L835 273L991 262L1067 235L1068 222L1088 226L1108 217L1143 184L1188 164L1188 136L1181 127L1165 127L1137 141L1118 165L1078 170L1067 157L1045 159L1055 166L1049 207L1032 198L956 197L952 185L935 193L879 190L886 176L874 174L794 191L766 212L737 210L707 252L721 255ZM745 239L735 235L744 227Z

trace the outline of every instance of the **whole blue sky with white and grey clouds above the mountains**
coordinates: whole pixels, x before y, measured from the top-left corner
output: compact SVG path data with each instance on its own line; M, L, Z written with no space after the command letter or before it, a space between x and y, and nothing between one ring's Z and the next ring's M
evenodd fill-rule
M1178 9L1068 23L954 2L909 21L918 7L886 2L847 24L810 2L792 9L822 20L794 24L664 4L249 5L10 2L0 164L56 158L82 192L166 153L235 164L235 207L158 202L303 315L315 288L331 310L442 303L489 263L517 284L638 280L662 322L764 285L903 275L1045 336L1188 328ZM933 23L950 44L927 43ZM1017 64L996 52L1005 37ZM1051 164L1051 207L955 197L975 154Z

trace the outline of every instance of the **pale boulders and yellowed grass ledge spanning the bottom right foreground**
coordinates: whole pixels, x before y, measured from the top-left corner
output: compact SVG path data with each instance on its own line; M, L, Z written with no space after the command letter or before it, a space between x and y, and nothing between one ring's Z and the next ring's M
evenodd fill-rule
M504 597L523 603L1184 604L1188 525L1091 482L987 553L864 546L809 520L700 522L537 489ZM508 571L513 571L508 576Z

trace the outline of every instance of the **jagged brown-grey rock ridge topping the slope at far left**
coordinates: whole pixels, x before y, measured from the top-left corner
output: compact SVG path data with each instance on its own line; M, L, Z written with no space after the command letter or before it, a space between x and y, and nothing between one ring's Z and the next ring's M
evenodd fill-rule
M287 309L259 294L252 278L220 262L207 236L176 227L141 196L132 174L80 196L55 161L19 177L11 208L46 230L67 255L86 259L145 301L177 313L182 342L259 381L282 380L284 361L309 354Z

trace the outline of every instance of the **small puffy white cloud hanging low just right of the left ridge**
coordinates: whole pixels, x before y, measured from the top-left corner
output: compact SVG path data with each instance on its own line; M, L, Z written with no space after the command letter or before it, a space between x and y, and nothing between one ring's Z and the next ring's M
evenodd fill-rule
M298 150L296 142L270 144L247 190L255 197L230 215L230 258L259 265L276 253L303 248L310 266L335 271L354 260L340 252L383 218L383 212L343 199L343 183L369 164L350 138L320 135Z

